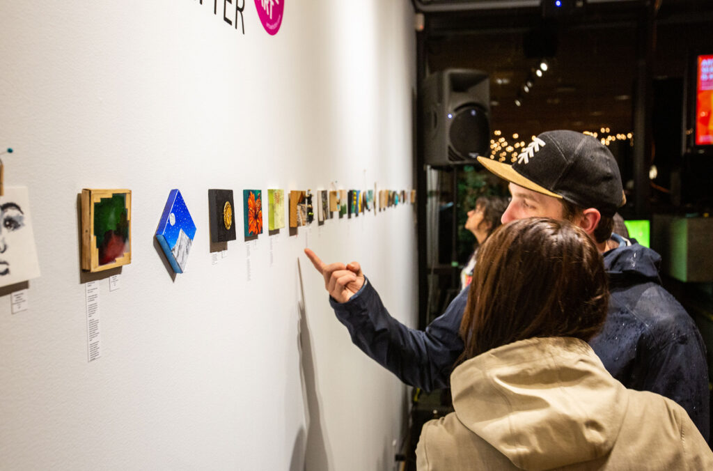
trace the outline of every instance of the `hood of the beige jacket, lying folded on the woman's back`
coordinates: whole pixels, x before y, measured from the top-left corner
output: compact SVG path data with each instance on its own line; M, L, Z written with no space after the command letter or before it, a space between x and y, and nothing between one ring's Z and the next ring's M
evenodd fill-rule
M628 404L626 389L575 338L489 350L453 370L451 388L458 420L528 470L606 455Z

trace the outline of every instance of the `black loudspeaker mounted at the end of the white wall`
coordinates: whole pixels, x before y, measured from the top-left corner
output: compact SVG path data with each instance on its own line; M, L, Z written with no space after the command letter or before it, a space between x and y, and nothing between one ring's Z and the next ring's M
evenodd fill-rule
M473 165L490 153L488 74L446 69L424 79L421 96L426 165Z

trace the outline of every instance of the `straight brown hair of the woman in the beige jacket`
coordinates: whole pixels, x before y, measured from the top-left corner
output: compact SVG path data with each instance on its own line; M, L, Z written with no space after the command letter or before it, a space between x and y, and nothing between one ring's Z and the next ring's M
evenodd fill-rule
M582 228L550 218L513 221L478 250L458 360L533 337L590 340L608 301L602 255Z

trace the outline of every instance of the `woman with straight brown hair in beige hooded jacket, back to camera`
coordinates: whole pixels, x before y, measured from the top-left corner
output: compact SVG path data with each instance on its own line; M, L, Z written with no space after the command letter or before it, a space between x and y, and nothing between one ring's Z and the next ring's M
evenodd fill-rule
M602 255L573 223L525 218L493 233L460 326L454 412L424 425L417 469L713 470L686 411L625 388L587 344L608 301Z

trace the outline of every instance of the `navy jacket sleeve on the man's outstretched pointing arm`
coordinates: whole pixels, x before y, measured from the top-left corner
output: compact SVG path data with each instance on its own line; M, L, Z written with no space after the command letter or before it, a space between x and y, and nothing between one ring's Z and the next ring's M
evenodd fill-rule
M347 303L331 297L329 303L354 345L404 383L431 391L448 386L453 364L463 351L458 328L467 300L466 288L425 331L392 318L368 282Z

